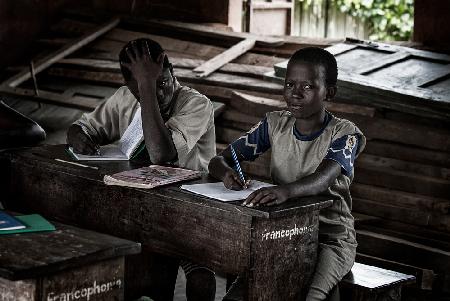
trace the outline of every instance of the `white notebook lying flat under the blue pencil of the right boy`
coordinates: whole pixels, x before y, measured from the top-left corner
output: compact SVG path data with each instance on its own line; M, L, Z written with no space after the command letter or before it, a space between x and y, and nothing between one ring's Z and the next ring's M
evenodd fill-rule
M244 190L231 190L226 188L222 182L203 183L193 185L182 185L181 189L203 195L212 199L231 202L236 200L245 200L253 191L262 187L273 186L269 183L264 183L252 180L250 185Z

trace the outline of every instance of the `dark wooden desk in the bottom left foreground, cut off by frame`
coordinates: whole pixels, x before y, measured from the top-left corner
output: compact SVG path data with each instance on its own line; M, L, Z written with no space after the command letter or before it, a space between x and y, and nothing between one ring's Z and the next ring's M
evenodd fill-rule
M139 243L54 223L0 235L0 300L123 300L124 256Z

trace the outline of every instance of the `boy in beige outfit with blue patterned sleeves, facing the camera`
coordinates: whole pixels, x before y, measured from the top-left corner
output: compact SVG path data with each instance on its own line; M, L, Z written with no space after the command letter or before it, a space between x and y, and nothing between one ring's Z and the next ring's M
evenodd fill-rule
M272 150L270 170L276 186L254 191L243 205L278 205L317 194L334 199L331 207L320 212L319 253L308 301L326 300L351 270L356 255L349 186L365 137L352 122L325 110L324 102L336 95L336 82L337 64L332 54L316 47L298 50L287 67L287 110L267 113L231 144L239 161L253 161ZM231 166L232 149L228 146L211 160L209 172L227 188L243 189L245 183Z

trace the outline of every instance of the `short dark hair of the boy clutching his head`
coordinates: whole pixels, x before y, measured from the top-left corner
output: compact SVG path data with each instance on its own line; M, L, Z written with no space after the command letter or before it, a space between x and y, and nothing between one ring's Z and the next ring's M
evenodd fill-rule
M150 56L152 57L153 61L156 62L159 55L164 52L164 49L161 47L161 45L151 39L147 38L140 38L136 40L129 41L120 51L119 53L119 64L120 64L120 70L122 71L123 78L125 81L129 81L131 79L131 72L128 70L128 68L124 67L122 63L129 63L130 60L128 59L128 55L126 52L126 49L128 47L131 47L131 44L136 44L137 47L142 47L143 45L147 44L148 48L150 49ZM170 73L173 74L173 67L172 64L169 62L169 59L167 58L167 55L164 58L163 62L163 68L169 68Z

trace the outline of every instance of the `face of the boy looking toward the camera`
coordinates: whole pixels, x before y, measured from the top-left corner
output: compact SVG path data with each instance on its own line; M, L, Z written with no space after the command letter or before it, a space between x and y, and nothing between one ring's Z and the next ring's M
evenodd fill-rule
M322 65L306 62L289 65L283 95L288 110L295 118L306 119L324 110L327 90Z

